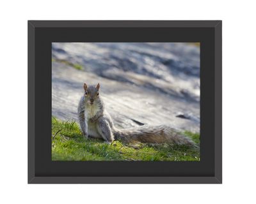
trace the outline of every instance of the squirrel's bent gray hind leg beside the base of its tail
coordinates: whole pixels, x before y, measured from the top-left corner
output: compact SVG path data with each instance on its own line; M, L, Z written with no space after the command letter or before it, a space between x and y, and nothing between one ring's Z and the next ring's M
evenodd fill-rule
M97 129L99 131L99 134L102 136L104 140L106 140L107 143L111 143L114 141L112 129L109 125L108 120L106 120L104 117L100 117L98 119Z

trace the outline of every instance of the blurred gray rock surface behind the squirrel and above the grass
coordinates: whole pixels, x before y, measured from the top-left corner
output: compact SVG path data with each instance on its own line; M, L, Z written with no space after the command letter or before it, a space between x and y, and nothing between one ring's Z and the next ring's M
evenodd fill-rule
M77 120L83 83L100 95L118 128L166 124L200 132L196 43L52 43L52 115Z

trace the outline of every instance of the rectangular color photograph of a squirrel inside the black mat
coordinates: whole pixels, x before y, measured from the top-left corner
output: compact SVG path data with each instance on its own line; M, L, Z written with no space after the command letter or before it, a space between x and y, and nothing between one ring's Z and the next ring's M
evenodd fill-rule
M200 43L52 42L52 161L200 161Z

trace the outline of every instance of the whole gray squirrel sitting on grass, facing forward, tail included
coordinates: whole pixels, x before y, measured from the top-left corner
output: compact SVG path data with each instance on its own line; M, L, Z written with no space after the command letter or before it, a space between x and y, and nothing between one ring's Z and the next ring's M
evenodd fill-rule
M192 145L195 143L169 126L141 126L140 128L117 129L106 112L99 94L100 84L84 83L84 94L79 101L78 117L81 131L86 138L103 138L106 143L121 140L124 143L173 143Z

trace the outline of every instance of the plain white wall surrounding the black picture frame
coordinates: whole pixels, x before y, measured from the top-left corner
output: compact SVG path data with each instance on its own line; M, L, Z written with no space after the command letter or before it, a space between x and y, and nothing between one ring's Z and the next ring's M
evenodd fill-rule
M253 1L1 1L1 203L255 201ZM222 185L28 185L27 20L223 20ZM4 200L4 201L2 201Z

